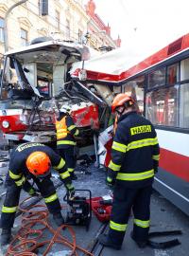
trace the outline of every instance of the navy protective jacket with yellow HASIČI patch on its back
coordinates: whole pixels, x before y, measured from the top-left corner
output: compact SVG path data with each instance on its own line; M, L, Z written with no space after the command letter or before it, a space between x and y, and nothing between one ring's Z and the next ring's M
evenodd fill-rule
M151 122L136 112L123 115L117 121L109 175L129 188L145 187L153 181L159 158L158 138Z

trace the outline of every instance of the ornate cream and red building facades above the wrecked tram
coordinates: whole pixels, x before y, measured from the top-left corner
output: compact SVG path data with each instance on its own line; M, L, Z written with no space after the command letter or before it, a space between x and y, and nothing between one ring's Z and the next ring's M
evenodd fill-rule
M111 27L95 13L94 0L86 6L82 0L27 0L9 12L20 2L0 1L0 58L37 37L84 43L97 50L120 46L121 40L112 39Z

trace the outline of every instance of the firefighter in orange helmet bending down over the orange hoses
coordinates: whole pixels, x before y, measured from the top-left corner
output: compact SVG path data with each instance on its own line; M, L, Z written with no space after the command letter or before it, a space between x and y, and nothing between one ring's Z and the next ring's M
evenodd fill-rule
M19 204L20 192L26 179L32 178L44 202L58 226L64 223L56 189L51 181L51 167L60 174L70 198L74 196L70 174L65 161L51 148L41 144L27 142L13 149L9 159L9 178L11 183L7 188L6 198L1 214L1 245L8 245L11 239L11 228L14 224L16 210Z

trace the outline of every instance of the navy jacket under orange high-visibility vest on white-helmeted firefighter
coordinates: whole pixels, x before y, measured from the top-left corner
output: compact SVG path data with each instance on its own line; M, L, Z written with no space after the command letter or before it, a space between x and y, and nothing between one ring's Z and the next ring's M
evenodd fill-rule
M78 136L78 129L70 116L60 116L56 121L57 147L58 149L68 148L77 144L75 137Z

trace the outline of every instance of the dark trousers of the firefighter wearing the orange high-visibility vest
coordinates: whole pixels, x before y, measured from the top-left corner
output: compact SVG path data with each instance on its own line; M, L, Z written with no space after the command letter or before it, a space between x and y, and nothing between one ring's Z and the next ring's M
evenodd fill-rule
M70 146L65 149L59 149L61 157L65 160L68 172L74 173L76 167L76 156L74 146Z

